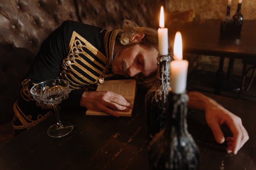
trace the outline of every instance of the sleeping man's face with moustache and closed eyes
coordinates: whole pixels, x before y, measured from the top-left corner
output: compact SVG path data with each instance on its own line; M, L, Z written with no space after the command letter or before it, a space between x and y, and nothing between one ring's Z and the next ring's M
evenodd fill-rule
M141 44L123 46L114 57L112 71L126 77L134 77L139 73L147 77L157 69L157 55L155 48L148 49Z

